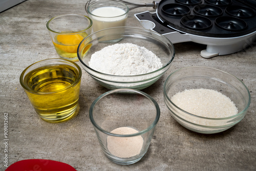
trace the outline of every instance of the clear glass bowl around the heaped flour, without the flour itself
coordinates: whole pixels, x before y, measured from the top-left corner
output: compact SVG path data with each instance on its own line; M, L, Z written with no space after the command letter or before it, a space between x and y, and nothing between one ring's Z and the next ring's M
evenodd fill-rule
M105 74L89 67L92 54L106 46L124 43L132 43L152 51L161 59L163 67L150 73L132 76ZM110 90L141 90L151 86L169 69L175 50L172 42L157 32L133 27L115 27L100 30L84 38L78 46L77 55L82 68L101 86Z

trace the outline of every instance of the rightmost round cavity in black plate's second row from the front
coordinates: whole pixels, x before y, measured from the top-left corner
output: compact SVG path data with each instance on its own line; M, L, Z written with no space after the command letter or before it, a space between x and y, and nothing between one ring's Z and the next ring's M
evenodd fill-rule
M226 13L239 18L251 18L255 16L255 10L245 6L229 6L225 9Z

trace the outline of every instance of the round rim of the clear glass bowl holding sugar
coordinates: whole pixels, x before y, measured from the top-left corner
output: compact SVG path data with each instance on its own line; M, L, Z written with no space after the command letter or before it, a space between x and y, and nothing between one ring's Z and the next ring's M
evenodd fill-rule
M203 69L207 69L207 70L216 70L216 71L222 72L222 73L224 73L224 74L226 74L226 75L229 75L229 76L231 76L232 78L238 80L240 83L242 83L242 85L244 86L244 88L246 89L246 91L247 91L247 93L248 93L249 99L248 99L248 103L246 104L245 108L244 108L241 112L237 113L236 115L232 115L232 116L228 116L228 117L224 117L224 118L208 118L208 117L198 116L198 115L194 115L194 114L191 114L191 113L189 113L189 112L186 112L186 111L184 111L183 109L179 108L179 106L177 106L177 105L176 105L172 100L170 100L170 98L168 97L167 91L166 91L166 84L167 84L168 80L170 79L170 77L173 76L174 74L176 74L177 72L180 72L180 71L182 71L182 70L191 69L191 68L193 68L193 69L195 69L195 70L198 69L198 68L203 68ZM181 68L181 69L178 69L178 70L174 71L174 72L171 73L171 74L166 78L166 80L164 81L163 94L164 94L164 97L167 99L168 102L172 103L172 104L175 106L175 108L177 108L178 110L182 111L183 113L185 113L185 114L187 114L187 115L190 115L190 116L193 116L193 117L196 117L196 118L207 119L207 120L225 120L225 119L236 118L236 117L242 115L245 111L248 110L249 105L250 105L250 102L251 102L250 91L248 90L248 88L245 86L245 84L244 84L239 78L237 78L236 76L234 76L234 75L232 75L232 74L229 74L229 73L227 73L227 72L225 72L225 71L222 71L222 70L219 70L219 69L216 69L216 68L211 68L211 67L193 66L193 67ZM175 115L176 115L176 114L175 114ZM178 115L176 115L176 116L178 116ZM184 120L184 119L183 119L183 120ZM184 121L187 122L187 120L184 120Z

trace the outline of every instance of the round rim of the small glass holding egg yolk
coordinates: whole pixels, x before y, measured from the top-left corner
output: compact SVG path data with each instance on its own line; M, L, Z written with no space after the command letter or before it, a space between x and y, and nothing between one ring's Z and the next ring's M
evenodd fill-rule
M70 32L70 33L69 33L69 32L65 32L65 33L57 32L57 31L54 31L54 30L52 30L52 29L50 28L49 25L50 25L50 23L51 23L54 19L60 18L60 17L64 17L64 16L72 16L72 15L73 15L73 16L80 16L80 17L85 17L85 18L87 18L87 19L90 21L89 26L88 26L87 28L81 30L81 31ZM93 25L92 19L91 19L90 17L86 16L86 15L82 15L82 14L62 14L62 15L57 15L57 16L51 18L51 19L47 22L46 27L47 27L47 29L48 29L49 31L51 31L51 32L53 32L53 33L62 34L62 35L73 35L73 34L82 33L82 32L84 32L84 31L90 29L90 28L92 27L92 25Z

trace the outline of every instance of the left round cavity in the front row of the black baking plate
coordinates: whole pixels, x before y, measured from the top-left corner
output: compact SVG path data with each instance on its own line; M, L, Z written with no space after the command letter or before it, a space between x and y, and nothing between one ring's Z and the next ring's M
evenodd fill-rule
M199 15L187 15L181 18L181 24L192 30L206 30L212 26L211 20Z

